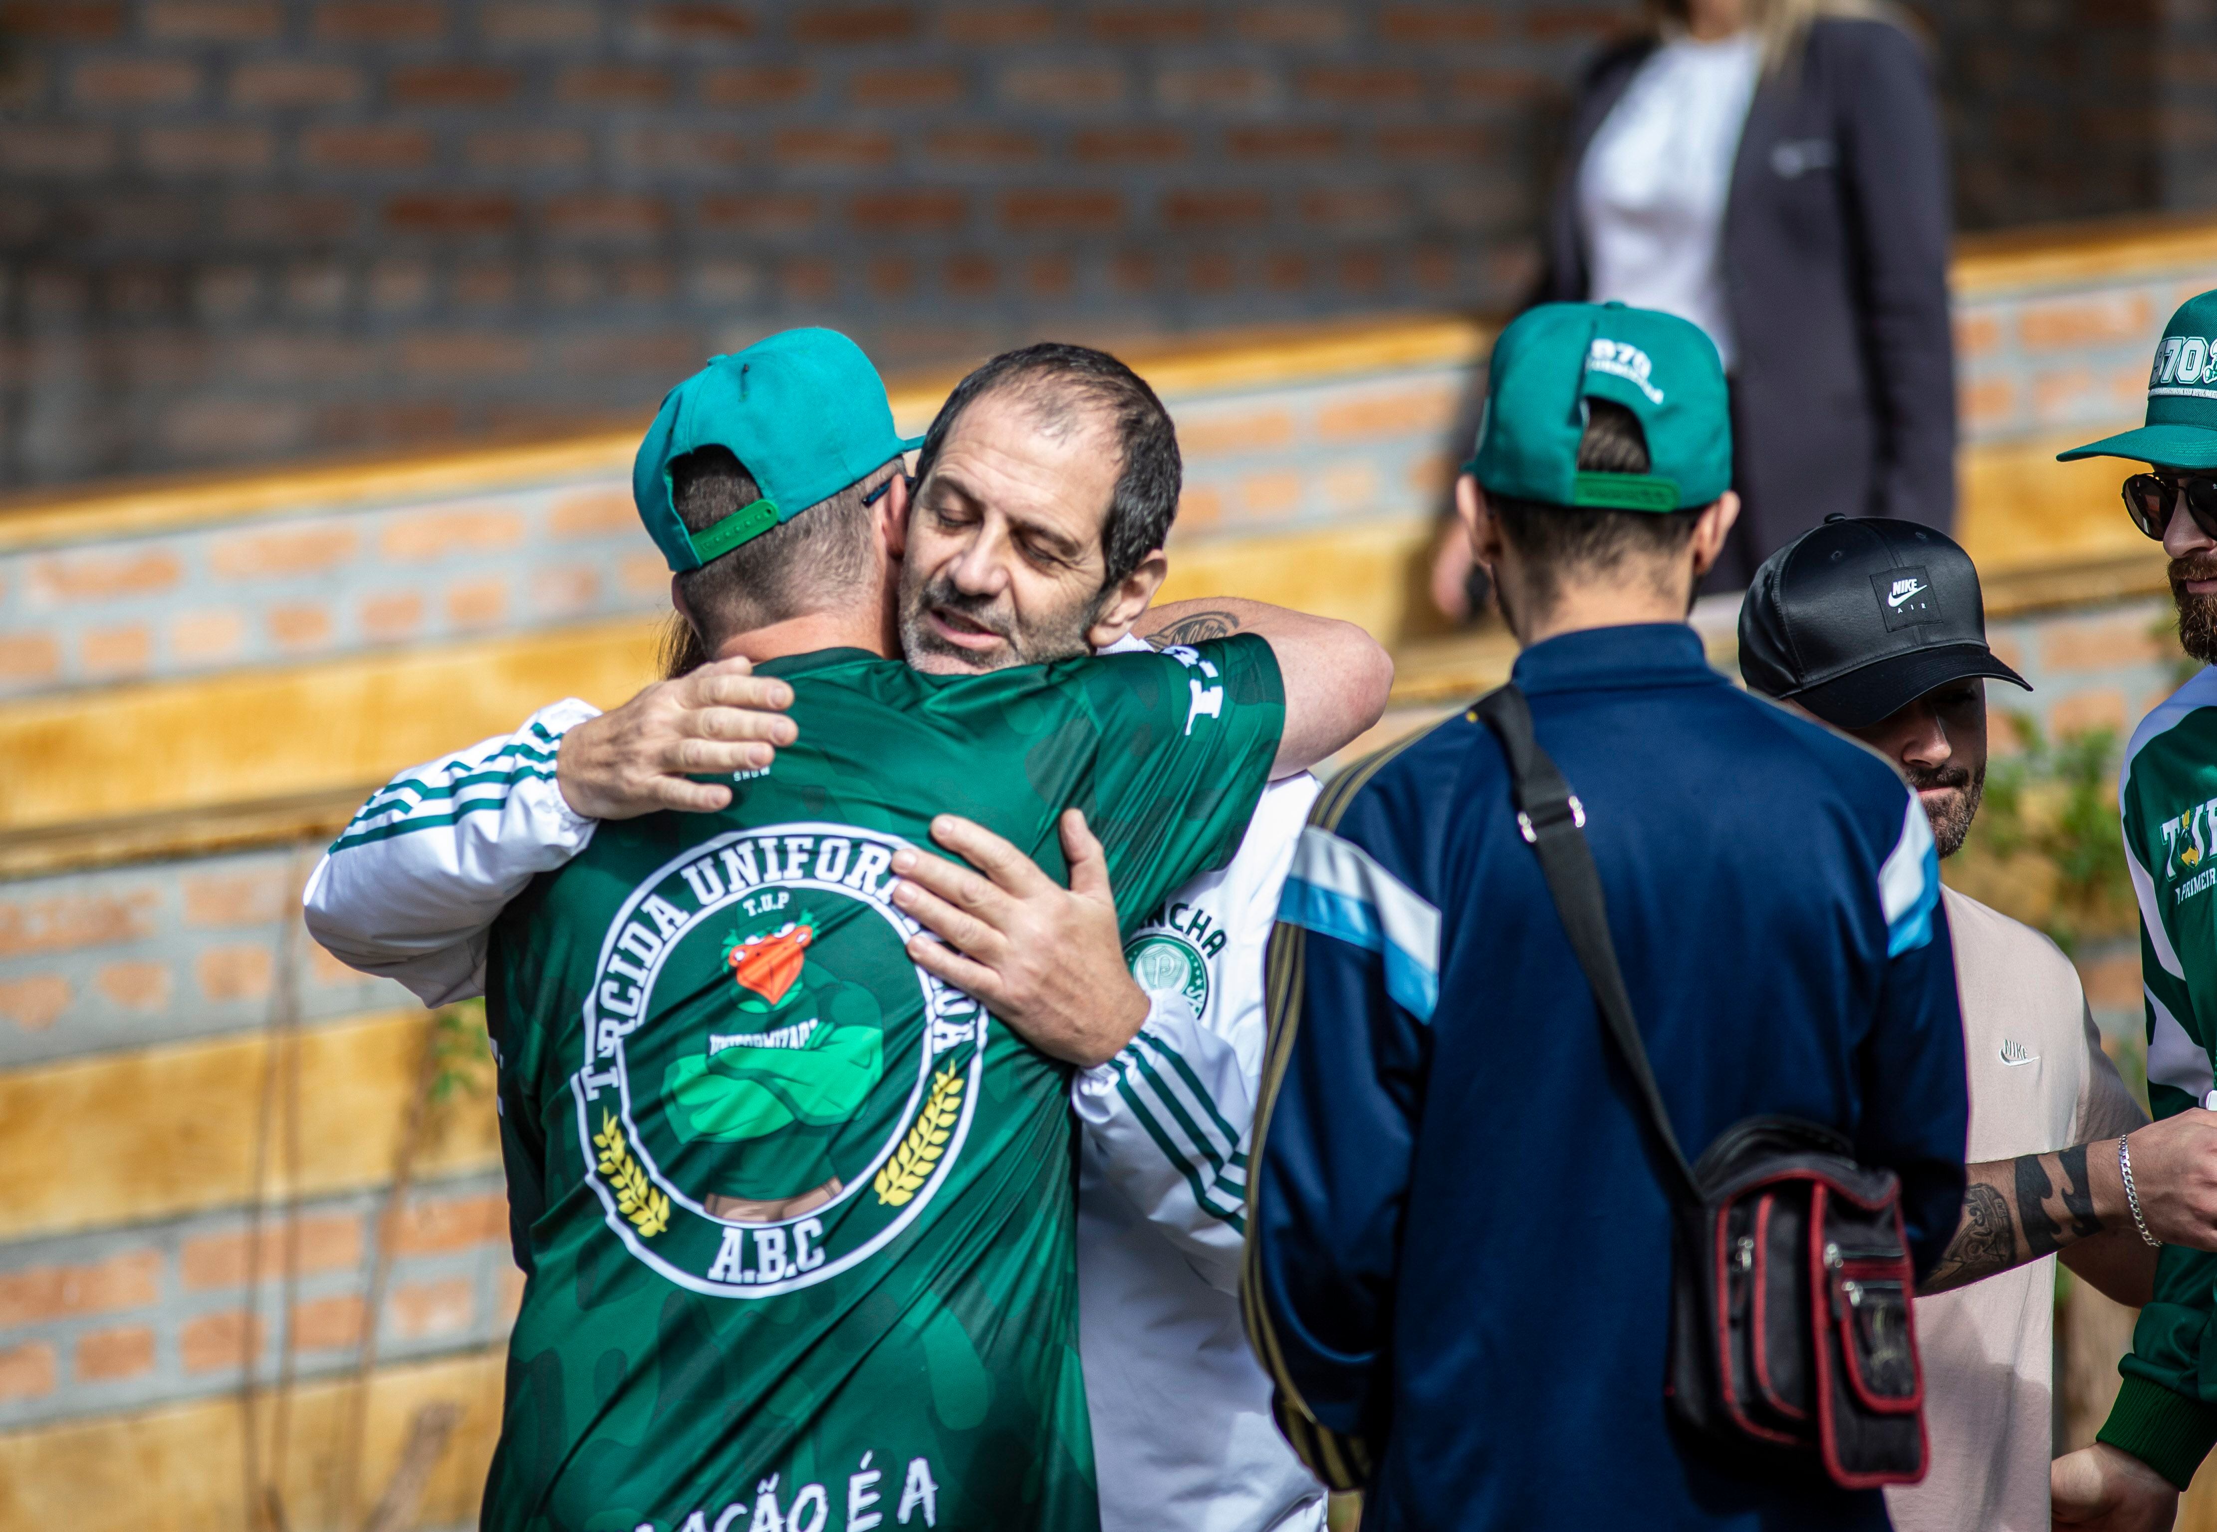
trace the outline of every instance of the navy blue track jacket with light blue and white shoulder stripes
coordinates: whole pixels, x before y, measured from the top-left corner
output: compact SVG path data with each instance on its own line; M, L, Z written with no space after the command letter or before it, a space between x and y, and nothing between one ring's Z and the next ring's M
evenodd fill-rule
M1915 796L1678 623L1550 639L1514 681L1687 1155L1831 1124L1900 1173L1929 1270L1966 1100ZM1665 1419L1669 1204L1485 725L1332 783L1279 920L1248 1324L1295 1446L1368 1477L1363 1532L1884 1528L1876 1490L1720 1472Z

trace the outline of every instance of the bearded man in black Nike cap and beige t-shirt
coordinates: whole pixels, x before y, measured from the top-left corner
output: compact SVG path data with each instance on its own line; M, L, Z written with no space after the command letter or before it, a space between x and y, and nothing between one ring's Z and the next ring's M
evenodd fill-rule
M1756 570L1740 674L1891 760L1942 860L1962 849L1986 785L1986 681L2026 685L1986 647L1971 556L1944 532L1876 517L1831 517ZM1891 1485L1887 1512L1900 1532L2042 1532L2055 1262L2119 1304L2146 1304L2157 1242L2210 1244L2217 1117L2148 1126L2055 942L1958 889L1940 898L1971 1164L1955 1235L1918 1290L1929 1470Z

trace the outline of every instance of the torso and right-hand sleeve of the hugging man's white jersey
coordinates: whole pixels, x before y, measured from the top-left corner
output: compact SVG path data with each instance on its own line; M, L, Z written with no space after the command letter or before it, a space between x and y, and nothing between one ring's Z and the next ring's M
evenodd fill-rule
M1266 787L1239 854L1131 936L1124 956L1153 1009L1071 1089L1102 1532L1324 1528L1324 1485L1270 1421L1237 1297L1268 1031L1261 956L1315 798L1306 774Z

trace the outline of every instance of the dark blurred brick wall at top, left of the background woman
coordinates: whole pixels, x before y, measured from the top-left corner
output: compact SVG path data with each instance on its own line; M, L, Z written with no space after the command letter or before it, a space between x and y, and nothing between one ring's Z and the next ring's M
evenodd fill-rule
M1499 308L1636 0L9 0L0 483L638 415L780 324Z

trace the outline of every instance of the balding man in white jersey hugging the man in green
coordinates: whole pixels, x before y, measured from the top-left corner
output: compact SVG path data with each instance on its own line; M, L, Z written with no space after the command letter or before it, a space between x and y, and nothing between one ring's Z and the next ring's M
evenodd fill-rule
M1049 470L1086 399L1060 401L1058 432L1058 401L1042 406L1038 375L995 372L1004 361L956 390L918 461L900 627L922 670L1137 645L1066 612L1055 621L1053 592L1040 592L1055 561L1053 548L1035 548L1053 521L1042 512L1071 492L1066 466ZM1115 537L1113 517L1104 537ZM1153 563L1159 579L1159 552ZM1224 601L1151 614L1151 641L1230 632L1259 612ZM1386 676L1377 681L1383 703ZM556 703L517 736L403 772L310 882L310 929L430 1004L470 995L508 898L576 856L599 818L718 807L725 789L692 776L767 769L769 747L791 741L774 712L787 696L783 683L723 663L605 716ZM1071 889L960 820L938 838L993 871L991 882L936 858L900 869L909 911L962 949L920 949L918 962L1084 1064L1071 1091L1084 1124L1080 1344L1111 1532L1324 1525L1324 1490L1270 1421L1233 1297L1264 1044L1261 944L1315 791L1306 776L1275 783L1237 858L1155 911L1122 956L1113 907L1106 925L1097 918L1104 887L1080 874L1091 862L1082 829L1069 840ZM417 820L452 805L457 834L379 838L381 803ZM1140 982L1100 982L1104 960L1120 976L1128 960Z

